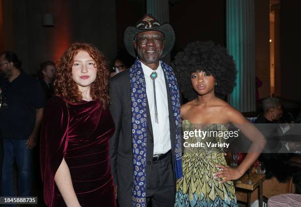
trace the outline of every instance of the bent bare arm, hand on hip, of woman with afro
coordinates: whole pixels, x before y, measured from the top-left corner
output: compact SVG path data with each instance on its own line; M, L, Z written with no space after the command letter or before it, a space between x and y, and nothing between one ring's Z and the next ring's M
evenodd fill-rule
M246 120L242 114L233 109L231 107L230 110L227 111L227 116L229 118L229 122L233 123L237 128L240 129L240 131L249 139L252 141L252 145L249 148L249 151L244 158L244 160L241 162L241 164L238 166L237 169L230 168L228 166L217 166L219 168L222 168L223 171L219 171L214 174L215 177L227 177L226 179L223 179L222 182L226 182L228 180L232 179L238 179L240 178L247 170L248 168L256 161L256 159L259 157L260 153L264 149L266 145L266 140L264 136L261 134L261 132L253 126L248 120Z

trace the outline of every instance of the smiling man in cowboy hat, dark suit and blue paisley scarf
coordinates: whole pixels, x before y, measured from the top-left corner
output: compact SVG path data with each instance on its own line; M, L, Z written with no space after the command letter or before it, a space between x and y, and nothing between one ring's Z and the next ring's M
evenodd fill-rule
M111 79L112 174L120 207L172 207L182 176L180 94L173 69L160 59L173 48L175 33L145 15L124 32L130 70Z

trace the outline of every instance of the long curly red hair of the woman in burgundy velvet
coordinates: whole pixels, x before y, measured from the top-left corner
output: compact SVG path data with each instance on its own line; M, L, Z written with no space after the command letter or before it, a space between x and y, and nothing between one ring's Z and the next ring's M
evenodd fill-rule
M88 43L73 43L62 55L57 64L57 78L54 82L55 94L71 103L82 101L81 92L72 79L72 65L74 57L79 51L86 51L95 61L97 74L95 81L91 84L90 95L93 100L100 100L102 108L109 104L109 78L110 72L106 66L105 57L99 50Z

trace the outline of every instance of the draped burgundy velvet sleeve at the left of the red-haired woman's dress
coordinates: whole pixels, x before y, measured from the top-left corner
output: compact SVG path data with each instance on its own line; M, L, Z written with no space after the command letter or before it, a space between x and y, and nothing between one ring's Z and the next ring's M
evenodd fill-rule
M41 175L44 200L49 207L54 205L55 174L60 166L68 146L69 113L66 102L52 97L46 107L40 142Z

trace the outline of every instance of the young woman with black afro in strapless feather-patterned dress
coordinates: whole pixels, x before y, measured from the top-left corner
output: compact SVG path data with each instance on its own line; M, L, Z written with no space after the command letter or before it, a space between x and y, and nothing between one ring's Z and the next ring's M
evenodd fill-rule
M232 180L240 178L254 163L265 140L239 111L221 99L235 86L234 59L225 48L211 41L197 41L179 52L172 66L180 90L189 100L181 106L182 130L189 136L183 136L183 177L177 181L175 207L237 207ZM225 134L229 123L252 141L238 168L227 166L222 145L226 138L219 136L220 132ZM189 132L196 130L208 133L191 136Z

